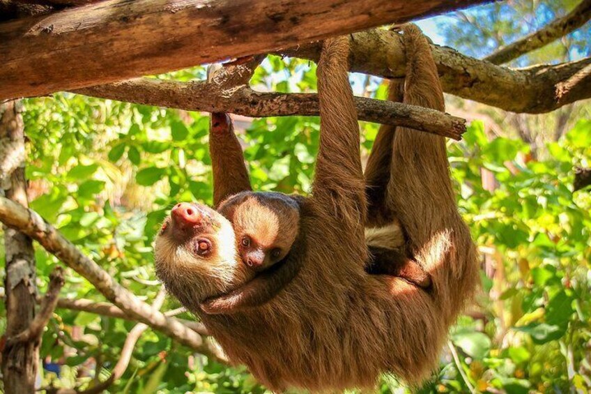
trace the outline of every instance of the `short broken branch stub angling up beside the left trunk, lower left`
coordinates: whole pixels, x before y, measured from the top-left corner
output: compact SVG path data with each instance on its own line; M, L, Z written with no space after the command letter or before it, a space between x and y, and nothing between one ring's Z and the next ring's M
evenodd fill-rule
M59 298L59 291L63 286L63 269L56 267L49 275L49 287L47 293L41 301L39 312L31 321L31 325L26 330L14 335L6 340L6 346L12 347L17 342L38 342L43 335L43 328L47 326L47 321L52 317Z

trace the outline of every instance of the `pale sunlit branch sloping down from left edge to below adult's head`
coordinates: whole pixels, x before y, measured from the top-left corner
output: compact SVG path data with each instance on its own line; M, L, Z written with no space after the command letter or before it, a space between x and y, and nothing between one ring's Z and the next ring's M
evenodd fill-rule
M75 245L36 212L0 197L0 221L38 241L43 248L84 276L109 301L133 319L148 324L195 351L213 359L225 361L224 355L217 347L204 341L199 334L183 325L178 319L166 317L161 312L152 310L150 305L140 301L128 289L119 285L111 275L92 259L83 255Z

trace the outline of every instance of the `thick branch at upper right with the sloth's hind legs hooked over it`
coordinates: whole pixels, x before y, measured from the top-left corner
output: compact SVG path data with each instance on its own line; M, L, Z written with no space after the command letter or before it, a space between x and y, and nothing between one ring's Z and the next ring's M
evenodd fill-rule
M591 59L523 69L496 66L449 47L431 45L443 90L512 112L540 114L591 98ZM277 52L317 61L318 43ZM351 71L401 78L406 56L401 36L372 29L353 34Z

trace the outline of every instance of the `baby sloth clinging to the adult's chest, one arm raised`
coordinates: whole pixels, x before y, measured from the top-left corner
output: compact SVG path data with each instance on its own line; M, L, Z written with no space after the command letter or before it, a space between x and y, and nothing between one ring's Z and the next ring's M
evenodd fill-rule
M283 264L298 236L300 206L305 202L304 197L280 192L251 191L243 152L227 114L211 114L210 156L214 206L232 223L243 263L258 272L266 271L275 264ZM374 190L373 183L370 179L368 192ZM401 255L398 250L401 234L399 230L393 230L366 229L369 247L366 271L398 276L429 289L429 275L413 260ZM387 236L384 237L384 234ZM396 236L392 237L392 234ZM209 314L235 313L266 303L298 273L295 262L296 260L290 259L285 266L273 268L260 280L203 303L201 309Z

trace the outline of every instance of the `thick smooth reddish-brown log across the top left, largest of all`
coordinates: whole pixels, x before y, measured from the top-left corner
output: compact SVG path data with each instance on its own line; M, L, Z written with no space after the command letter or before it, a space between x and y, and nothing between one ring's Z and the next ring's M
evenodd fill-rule
M0 100L165 73L486 0L110 0L0 24Z

